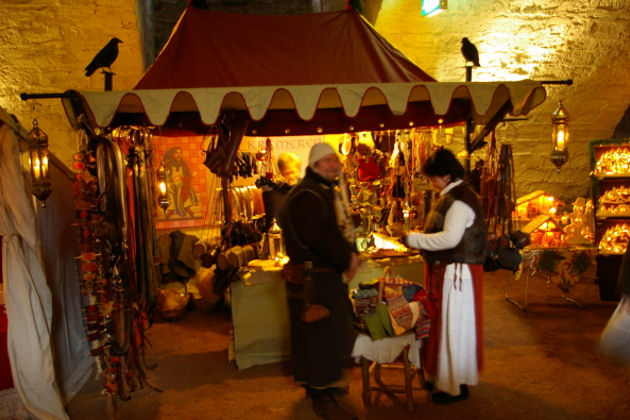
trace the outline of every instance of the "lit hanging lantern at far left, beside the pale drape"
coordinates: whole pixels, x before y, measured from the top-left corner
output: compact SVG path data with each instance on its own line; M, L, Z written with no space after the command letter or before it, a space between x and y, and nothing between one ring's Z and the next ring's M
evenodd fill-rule
M28 133L27 141L33 195L41 207L46 207L46 199L52 192L48 170L48 136L39 128L37 119L33 120L33 129Z

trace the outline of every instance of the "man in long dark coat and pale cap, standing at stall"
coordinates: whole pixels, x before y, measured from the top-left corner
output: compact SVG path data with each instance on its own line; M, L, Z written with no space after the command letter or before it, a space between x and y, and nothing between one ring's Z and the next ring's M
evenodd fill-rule
M337 178L341 163L326 143L311 148L305 177L290 192L280 212L286 251L285 276L291 317L291 356L294 379L313 399L323 418L354 418L335 399L342 368L353 344L352 307L348 286L359 265L355 246L344 236ZM304 267L312 264L306 273ZM316 321L305 317L308 305L327 310ZM306 318L306 319L305 319Z

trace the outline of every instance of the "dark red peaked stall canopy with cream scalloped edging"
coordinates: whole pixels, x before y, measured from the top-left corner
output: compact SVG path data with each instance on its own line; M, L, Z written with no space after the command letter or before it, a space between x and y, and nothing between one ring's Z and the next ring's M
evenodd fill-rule
M233 111L246 116L244 134L278 136L487 124L526 115L546 92L531 80L438 82L355 10L270 16L189 5L133 90L70 96L70 120L85 113L101 128L205 133Z

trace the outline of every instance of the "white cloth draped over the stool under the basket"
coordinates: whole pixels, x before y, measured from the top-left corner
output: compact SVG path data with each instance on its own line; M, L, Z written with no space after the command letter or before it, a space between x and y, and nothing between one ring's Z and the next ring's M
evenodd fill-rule
M354 341L352 357L359 360L365 357L377 363L391 363L409 346L408 358L412 365L420 367L420 340L415 339L414 333L407 333L397 337L387 337L382 340L372 340L367 334L359 334Z

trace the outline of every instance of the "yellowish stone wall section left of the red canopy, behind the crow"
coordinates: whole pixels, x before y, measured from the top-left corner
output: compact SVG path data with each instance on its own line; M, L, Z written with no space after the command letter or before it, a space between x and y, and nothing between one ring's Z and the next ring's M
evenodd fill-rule
M112 65L114 89L131 89L143 72L140 31L130 0L0 0L0 106L29 130L33 118L66 164L77 137L59 99L22 101L20 93L103 90L104 76L87 66L112 37L123 41Z

